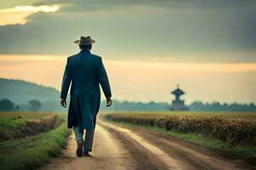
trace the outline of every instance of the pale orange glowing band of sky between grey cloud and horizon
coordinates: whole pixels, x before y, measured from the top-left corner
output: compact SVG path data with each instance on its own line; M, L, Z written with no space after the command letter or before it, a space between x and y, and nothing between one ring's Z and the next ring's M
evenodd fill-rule
M256 63L180 63L107 58L103 60L114 88L114 95L119 99L168 101L169 91L177 84L186 89L187 101L218 99L233 102L243 99L249 102L256 96L249 90L256 83L253 79L256 75ZM0 77L37 82L60 89L66 61L67 57L63 55L2 54ZM201 88L199 94L197 87ZM235 94L235 91L238 93ZM134 93L137 95L131 95Z

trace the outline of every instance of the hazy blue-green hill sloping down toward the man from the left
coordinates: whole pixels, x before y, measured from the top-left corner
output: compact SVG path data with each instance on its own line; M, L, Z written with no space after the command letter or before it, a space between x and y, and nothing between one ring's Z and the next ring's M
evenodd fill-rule
M0 99L10 99L17 105L26 105L32 99L42 103L59 101L60 92L32 82L0 78Z

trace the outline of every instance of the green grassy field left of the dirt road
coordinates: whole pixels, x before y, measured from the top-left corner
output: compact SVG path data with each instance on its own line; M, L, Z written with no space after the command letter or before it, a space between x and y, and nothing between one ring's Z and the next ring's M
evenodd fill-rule
M66 123L51 113L0 113L0 169L33 169L58 156Z

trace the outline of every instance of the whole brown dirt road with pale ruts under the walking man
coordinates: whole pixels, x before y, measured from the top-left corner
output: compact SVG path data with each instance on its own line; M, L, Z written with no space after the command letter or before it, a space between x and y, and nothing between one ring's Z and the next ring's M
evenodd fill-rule
M93 157L79 158L75 155L75 150L76 143L72 134L63 155L52 159L41 169L247 169L241 161L227 160L193 144L102 120L96 125L91 154Z

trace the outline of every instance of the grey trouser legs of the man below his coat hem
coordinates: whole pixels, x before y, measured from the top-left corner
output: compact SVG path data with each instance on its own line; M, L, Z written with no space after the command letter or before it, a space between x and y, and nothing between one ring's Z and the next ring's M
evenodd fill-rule
M84 149L85 150L92 150L92 144L93 144L93 138L94 138L94 131L95 129L87 129L85 136L84 136L84 129L80 127L73 127L73 132L75 133L76 136L76 141L78 142L79 140L84 141Z

